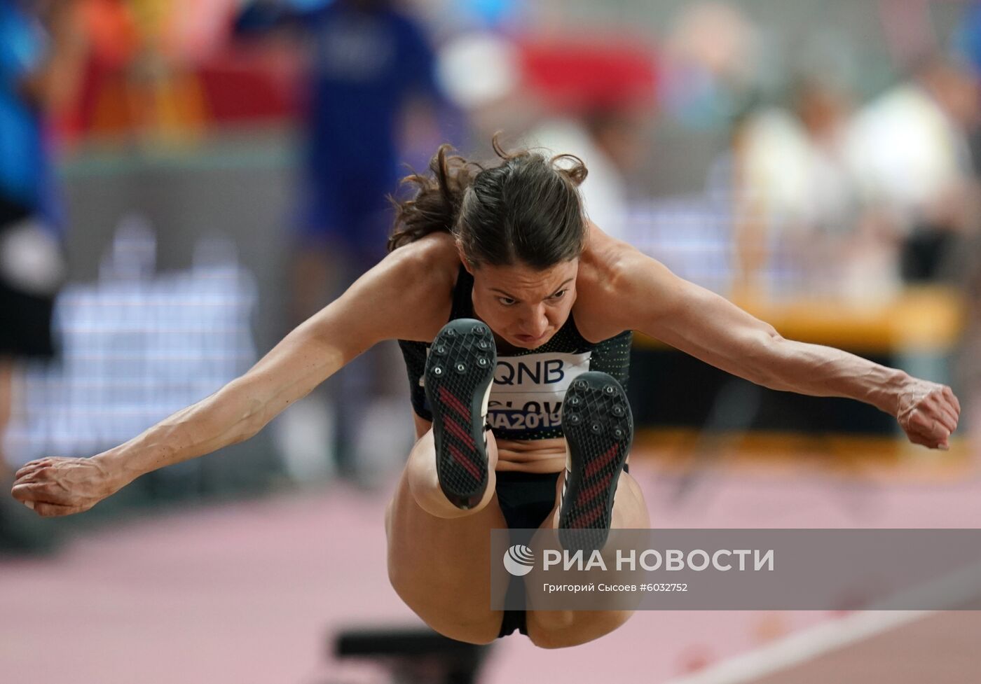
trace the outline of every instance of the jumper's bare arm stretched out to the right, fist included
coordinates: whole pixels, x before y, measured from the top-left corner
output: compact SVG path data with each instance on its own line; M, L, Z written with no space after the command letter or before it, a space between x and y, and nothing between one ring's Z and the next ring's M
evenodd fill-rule
M895 416L913 443L950 446L960 405L946 385L840 349L784 339L772 325L626 246L609 287L624 328L771 389L871 404Z

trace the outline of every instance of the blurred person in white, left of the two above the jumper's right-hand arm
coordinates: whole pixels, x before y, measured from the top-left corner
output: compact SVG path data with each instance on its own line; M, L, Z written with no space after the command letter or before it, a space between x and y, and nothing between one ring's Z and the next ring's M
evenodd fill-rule
M739 286L768 297L891 297L897 241L862 212L847 89L815 71L797 79L789 104L734 126Z

